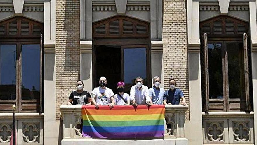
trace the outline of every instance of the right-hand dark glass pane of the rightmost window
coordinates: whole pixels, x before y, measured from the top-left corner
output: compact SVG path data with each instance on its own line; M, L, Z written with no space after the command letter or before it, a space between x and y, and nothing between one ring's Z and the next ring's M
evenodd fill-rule
M244 57L242 43L227 43L229 98L244 96Z

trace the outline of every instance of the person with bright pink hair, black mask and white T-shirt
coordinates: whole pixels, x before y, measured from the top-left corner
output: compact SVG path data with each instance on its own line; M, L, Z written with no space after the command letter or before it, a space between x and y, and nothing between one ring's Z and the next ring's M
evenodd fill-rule
M124 87L124 82L120 81L117 83L117 89L119 92L114 95L114 98L116 99L116 105L129 105L130 103L129 94L123 92Z

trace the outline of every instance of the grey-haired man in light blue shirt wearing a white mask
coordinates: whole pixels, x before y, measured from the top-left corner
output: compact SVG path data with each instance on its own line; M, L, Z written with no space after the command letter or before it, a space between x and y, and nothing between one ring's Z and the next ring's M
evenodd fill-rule
M163 95L164 89L160 88L161 78L159 76L155 76L153 78L154 86L149 89L149 97L153 104L161 105L163 104Z

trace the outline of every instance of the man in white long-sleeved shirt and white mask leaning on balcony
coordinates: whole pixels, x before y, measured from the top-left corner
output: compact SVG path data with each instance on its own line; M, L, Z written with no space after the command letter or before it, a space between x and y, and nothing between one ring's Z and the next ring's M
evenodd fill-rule
M135 79L136 85L132 86L130 89L130 100L133 106L138 104L146 104L151 106L151 99L149 98L148 87L143 85L143 79L138 76Z

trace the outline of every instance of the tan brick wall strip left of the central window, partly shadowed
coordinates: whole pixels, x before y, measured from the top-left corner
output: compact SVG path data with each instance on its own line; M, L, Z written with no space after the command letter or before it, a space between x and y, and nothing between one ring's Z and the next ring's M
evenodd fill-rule
M80 0L56 0L56 119L80 70Z

